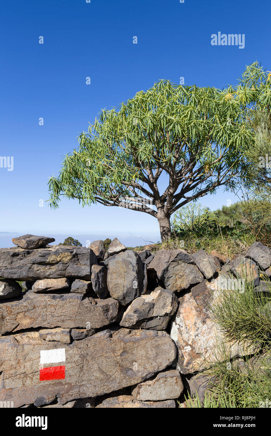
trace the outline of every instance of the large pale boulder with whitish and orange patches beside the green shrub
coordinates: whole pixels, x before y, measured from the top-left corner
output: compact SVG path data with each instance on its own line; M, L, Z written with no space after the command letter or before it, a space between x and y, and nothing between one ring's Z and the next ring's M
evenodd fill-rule
M225 340L211 316L211 306L219 302L221 291L218 279L205 281L179 298L179 307L171 325L171 338L179 351L177 370L191 374L210 368L212 362L224 360L223 350L229 358L252 354L254 349L245 342L234 343Z

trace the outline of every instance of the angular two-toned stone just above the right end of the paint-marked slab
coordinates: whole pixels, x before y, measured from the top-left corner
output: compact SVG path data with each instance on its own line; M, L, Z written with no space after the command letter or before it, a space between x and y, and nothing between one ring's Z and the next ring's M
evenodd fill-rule
M165 330L178 307L174 292L157 288L148 295L136 298L124 312L122 327Z

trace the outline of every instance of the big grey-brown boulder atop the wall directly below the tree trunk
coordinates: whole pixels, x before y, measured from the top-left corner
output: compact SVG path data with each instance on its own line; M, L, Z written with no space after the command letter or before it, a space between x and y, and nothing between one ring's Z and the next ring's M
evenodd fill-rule
M166 289L181 291L204 280L194 260L184 250L159 250L149 263L148 270L154 270Z

